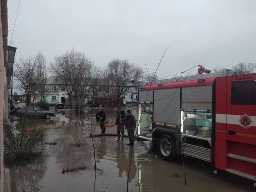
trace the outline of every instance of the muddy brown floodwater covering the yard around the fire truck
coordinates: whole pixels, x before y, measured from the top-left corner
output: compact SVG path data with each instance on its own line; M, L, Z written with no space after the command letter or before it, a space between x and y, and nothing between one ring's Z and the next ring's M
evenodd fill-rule
M164 161L152 152L150 141L135 141L133 148L126 145L127 137L117 141L113 136L116 111L107 114L106 135L93 137L93 142L98 142L95 171L88 129L96 125L94 115L86 116L86 121L81 117L76 120L67 110L60 112L49 120L31 119L47 134L44 155L28 165L7 165L6 192L123 192L127 183L129 192L256 191L253 181L221 170L213 174L209 163L195 158L188 158L186 169L181 157L175 162ZM135 109L132 113L137 118ZM100 127L93 132L97 134Z

